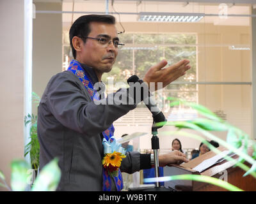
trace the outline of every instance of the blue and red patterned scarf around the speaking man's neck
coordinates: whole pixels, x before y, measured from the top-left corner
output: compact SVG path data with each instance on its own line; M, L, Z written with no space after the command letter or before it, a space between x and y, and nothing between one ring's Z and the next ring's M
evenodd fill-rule
M74 73L74 75L76 75L77 78L79 78L79 80L82 82L82 84L90 94L90 97L92 100L95 99L98 101L100 99L98 92L93 88L92 80L90 80L90 78L86 75L83 68L81 67L81 64L79 64L78 61L76 61L75 59L72 59L67 70L71 71L72 73ZM107 141L109 141L109 138L114 136L114 131L115 131L115 128L112 124L108 129L102 132L102 135ZM112 139L113 137L111 138L111 140ZM102 168L102 170L103 170L102 171L102 176L103 176L102 191L111 191L111 182L112 182L111 176L108 175L108 172L105 170L105 168ZM118 176L113 177L113 179L115 181L115 186L117 191L121 191L124 187L124 183L123 183L122 173L120 169L118 169Z

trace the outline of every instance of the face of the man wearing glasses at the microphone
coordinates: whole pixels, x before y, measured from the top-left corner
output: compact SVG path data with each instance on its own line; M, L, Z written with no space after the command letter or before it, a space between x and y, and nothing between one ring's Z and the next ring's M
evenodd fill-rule
M109 40L118 40L116 27L113 24L91 22L90 29L91 32L88 34L90 38L106 37ZM99 73L111 71L118 54L118 48L113 45L113 42L102 45L99 41L90 38L86 39L81 50L83 63L91 66Z

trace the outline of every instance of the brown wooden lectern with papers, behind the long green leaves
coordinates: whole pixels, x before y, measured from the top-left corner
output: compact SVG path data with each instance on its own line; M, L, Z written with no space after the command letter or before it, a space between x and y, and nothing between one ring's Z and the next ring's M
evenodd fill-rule
M227 150L224 147L218 147L218 150L221 152ZM256 179L251 175L243 177L245 171L239 167L233 167L234 163L224 160L221 163L214 164L207 168L206 170L199 173L198 171L193 170L195 166L202 163L205 159L209 159L216 154L212 151L203 154L202 156L192 159L188 163L181 165L173 164L172 166L164 167L164 177L171 175L182 175L182 174L196 174L196 175L205 175L209 177L214 177L217 179L223 179L227 176L227 182L243 189L244 191L256 191ZM232 156L233 159L238 159L239 156L236 154ZM251 167L252 165L244 163L247 166ZM224 173L227 173L224 175ZM193 180L172 180L164 182L164 187L170 187L175 191L227 191L219 186L214 186L212 184L204 182L196 182Z

